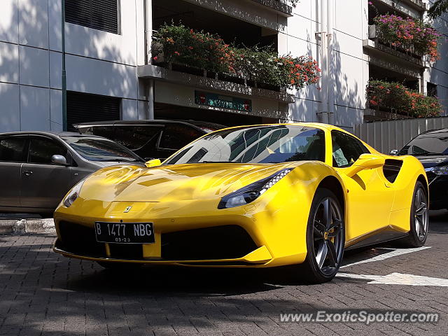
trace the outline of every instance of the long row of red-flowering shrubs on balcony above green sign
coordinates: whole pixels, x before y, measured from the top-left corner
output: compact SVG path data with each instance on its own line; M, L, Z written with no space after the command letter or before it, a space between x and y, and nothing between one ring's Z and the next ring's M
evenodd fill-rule
M321 71L311 57L279 56L272 48L241 48L217 35L183 25L163 25L155 34L153 59L196 66L207 71L283 88L317 83Z

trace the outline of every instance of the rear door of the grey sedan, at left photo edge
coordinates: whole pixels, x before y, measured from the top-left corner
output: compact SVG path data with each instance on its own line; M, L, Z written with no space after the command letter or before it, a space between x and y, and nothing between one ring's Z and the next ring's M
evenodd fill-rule
M0 208L20 207L20 168L26 160L27 137L0 137Z

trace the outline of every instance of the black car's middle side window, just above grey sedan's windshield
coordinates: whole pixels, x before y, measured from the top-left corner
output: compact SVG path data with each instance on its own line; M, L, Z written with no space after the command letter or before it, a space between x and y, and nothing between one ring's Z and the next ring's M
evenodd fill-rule
M162 130L162 127L138 125L118 125L114 128L115 134L111 139L129 148L131 151L136 151L146 144L153 144L155 148L158 136Z

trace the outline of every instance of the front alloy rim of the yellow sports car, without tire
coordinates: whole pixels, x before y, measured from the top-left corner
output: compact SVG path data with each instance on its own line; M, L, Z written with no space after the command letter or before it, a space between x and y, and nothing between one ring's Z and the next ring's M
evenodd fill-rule
M330 197L318 204L313 221L313 246L316 263L325 275L339 267L344 248L344 225L339 205Z

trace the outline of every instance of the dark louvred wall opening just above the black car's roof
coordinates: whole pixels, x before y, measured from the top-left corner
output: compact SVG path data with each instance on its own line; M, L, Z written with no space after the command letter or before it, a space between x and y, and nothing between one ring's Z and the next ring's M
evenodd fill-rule
M121 99L98 94L67 92L67 130L73 124L120 120Z

